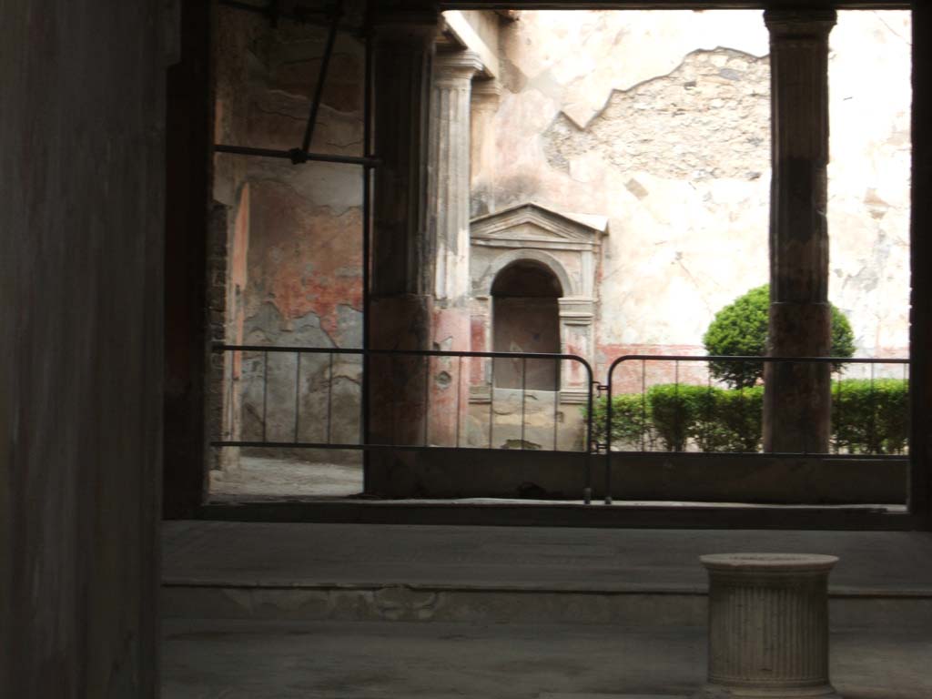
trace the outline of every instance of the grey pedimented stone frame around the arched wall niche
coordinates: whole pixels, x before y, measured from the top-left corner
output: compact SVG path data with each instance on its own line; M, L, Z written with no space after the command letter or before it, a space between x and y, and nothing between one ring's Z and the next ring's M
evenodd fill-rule
M557 212L533 202L474 218L470 222L473 350L492 349L492 283L519 260L547 267L560 282L560 351L592 364L596 340L596 275L608 218ZM579 363L560 372L560 403L583 403L588 377ZM480 396L475 396L480 398Z

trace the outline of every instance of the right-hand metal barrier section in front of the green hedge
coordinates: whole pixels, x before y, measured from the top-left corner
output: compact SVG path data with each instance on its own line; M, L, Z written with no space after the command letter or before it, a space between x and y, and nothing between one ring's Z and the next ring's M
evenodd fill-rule
M906 359L840 357L619 357L601 387L605 401L596 403L594 430L605 455L606 501L613 454L901 460L909 448L909 364ZM808 369L802 381L824 385L822 399L817 391L811 395L828 407L826 448L808 448L805 440L801 447L781 448L787 440L773 435L779 426L768 444L765 426L778 421L774 405L783 397L772 396L771 415L765 417L764 377L779 367ZM795 408L791 404L789 409Z

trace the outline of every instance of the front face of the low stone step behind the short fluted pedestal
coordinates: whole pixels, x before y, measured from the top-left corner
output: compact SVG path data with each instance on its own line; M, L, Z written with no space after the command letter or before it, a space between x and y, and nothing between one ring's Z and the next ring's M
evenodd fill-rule
M421 584L199 584L162 587L167 617L303 621L704 626L705 592L507 589ZM932 595L829 596L833 628L932 627Z

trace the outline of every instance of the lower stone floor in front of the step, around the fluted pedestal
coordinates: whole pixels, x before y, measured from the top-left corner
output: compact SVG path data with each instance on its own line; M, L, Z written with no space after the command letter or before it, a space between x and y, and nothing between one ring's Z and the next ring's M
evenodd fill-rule
M700 627L166 620L163 699L586 699L687 696ZM928 699L928 633L831 636L845 699ZM652 699L659 699L653 697Z

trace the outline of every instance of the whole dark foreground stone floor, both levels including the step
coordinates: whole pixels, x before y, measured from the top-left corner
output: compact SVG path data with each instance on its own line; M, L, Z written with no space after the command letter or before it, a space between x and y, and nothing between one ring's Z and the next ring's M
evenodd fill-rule
M164 699L679 699L706 671L697 556L753 550L841 556L845 699L932 697L928 533L168 522L163 541Z

